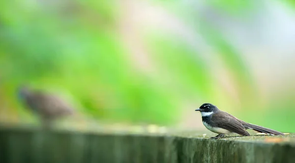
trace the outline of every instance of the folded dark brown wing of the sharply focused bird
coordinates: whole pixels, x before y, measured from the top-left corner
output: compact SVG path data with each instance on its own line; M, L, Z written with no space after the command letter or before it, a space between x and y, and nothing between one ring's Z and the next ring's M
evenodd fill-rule
M250 135L235 117L226 112L223 112L223 114L213 114L211 120L214 122L216 127L220 127L243 136Z

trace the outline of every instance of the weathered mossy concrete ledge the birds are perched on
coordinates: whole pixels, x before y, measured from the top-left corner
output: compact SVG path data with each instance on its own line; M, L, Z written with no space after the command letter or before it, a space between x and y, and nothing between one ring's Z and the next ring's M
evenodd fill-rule
M295 134L220 140L209 140L214 134L203 134L106 134L1 127L0 163L295 163Z

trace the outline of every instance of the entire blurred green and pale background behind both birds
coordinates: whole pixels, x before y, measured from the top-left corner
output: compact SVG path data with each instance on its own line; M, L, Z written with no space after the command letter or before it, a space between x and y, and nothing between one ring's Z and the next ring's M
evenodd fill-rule
M204 128L205 102L295 132L292 0L2 0L0 122L19 84L99 121Z

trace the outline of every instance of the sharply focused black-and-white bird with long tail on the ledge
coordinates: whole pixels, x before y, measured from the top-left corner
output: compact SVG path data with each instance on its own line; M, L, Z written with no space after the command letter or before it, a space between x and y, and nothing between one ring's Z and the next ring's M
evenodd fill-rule
M229 133L250 136L250 134L246 131L247 129L270 135L284 135L283 133L275 130L244 122L235 116L219 110L215 105L210 103L201 105L200 108L195 111L201 112L204 126L208 130L218 134L215 137L211 137L211 139L226 137L226 134Z

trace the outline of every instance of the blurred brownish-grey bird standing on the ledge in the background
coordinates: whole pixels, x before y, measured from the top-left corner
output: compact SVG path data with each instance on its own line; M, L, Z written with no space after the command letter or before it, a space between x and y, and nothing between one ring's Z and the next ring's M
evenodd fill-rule
M26 85L17 89L22 103L41 118L45 129L51 128L51 123L57 118L74 114L73 107L56 94L33 90Z

